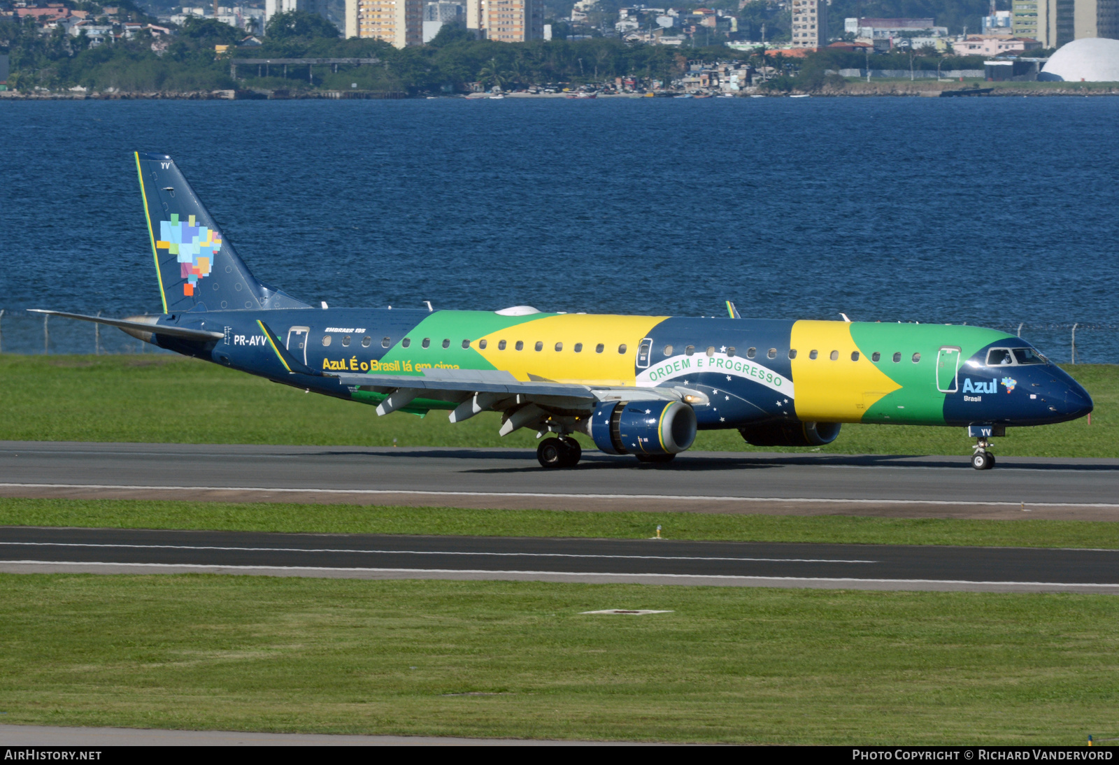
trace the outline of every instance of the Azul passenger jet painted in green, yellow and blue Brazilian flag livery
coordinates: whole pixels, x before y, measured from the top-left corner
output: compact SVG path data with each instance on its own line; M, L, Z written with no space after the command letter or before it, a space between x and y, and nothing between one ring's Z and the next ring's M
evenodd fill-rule
M818 447L843 423L966 427L995 465L1007 427L1075 419L1088 393L1013 334L955 324L319 308L257 281L167 154L135 152L158 315L109 319L144 342L378 415L501 413L537 432L544 468L573 468L574 434L665 463L700 429L755 446Z

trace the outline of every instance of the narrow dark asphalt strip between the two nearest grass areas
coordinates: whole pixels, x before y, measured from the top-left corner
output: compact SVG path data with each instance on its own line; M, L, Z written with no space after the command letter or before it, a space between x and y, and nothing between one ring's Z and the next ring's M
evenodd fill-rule
M1119 550L0 528L9 573L1119 594Z

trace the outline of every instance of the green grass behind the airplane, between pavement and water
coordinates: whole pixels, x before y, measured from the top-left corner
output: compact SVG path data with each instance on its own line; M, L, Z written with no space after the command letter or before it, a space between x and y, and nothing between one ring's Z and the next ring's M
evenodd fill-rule
M1119 366L1068 370L1096 402L1092 424L1012 428L999 455L1119 456ZM501 438L496 414L451 425L308 395L211 363L168 356L0 356L0 440L121 441L399 446L534 447L535 433ZM582 438L585 448L593 448ZM970 454L963 428L844 425L839 454ZM698 451L801 451L742 441L736 431L703 432Z

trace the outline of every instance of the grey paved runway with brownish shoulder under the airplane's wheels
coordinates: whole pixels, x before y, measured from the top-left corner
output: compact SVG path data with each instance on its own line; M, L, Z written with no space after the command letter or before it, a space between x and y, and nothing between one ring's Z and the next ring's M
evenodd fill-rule
M0 442L0 495L1117 520L1119 460Z

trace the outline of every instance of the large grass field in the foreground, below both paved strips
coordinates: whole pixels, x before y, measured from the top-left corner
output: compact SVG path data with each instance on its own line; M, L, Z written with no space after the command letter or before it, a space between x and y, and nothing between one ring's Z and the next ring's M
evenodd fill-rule
M580 614L614 607L673 613ZM0 575L0 620L12 724L762 744L1119 735L1107 595Z

